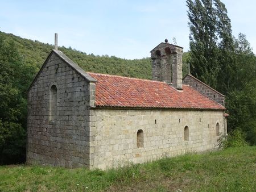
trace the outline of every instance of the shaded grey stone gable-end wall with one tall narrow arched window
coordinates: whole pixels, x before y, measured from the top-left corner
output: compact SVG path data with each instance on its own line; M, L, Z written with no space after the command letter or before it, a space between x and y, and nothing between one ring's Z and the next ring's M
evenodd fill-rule
M56 118L50 120L52 85L57 88L57 103ZM28 93L28 163L68 168L89 166L89 101L93 100L93 96L89 97L92 92L89 87L92 86L95 84L89 85L67 62L51 53Z

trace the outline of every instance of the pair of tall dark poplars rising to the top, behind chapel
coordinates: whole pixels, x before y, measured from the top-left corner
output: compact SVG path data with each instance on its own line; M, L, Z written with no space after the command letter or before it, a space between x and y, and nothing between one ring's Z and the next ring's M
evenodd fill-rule
M233 45L227 10L219 0L187 0L187 6L191 73L216 89L223 63L220 59Z

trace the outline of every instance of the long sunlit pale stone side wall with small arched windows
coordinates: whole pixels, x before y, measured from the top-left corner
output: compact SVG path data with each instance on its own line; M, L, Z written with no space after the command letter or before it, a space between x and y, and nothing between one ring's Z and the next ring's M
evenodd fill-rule
M186 152L216 148L216 124L224 133L223 111L114 110L90 111L90 168L107 169L129 162L142 163ZM188 141L184 128L189 128ZM137 132L143 147L137 148ZM140 140L140 139L139 139Z

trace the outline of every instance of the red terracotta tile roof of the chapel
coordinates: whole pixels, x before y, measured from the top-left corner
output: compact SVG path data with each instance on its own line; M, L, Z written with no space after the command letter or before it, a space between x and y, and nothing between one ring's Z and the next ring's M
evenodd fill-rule
M165 82L100 73L88 74L97 80L96 106L225 109L188 85L183 85L183 90L178 91Z

